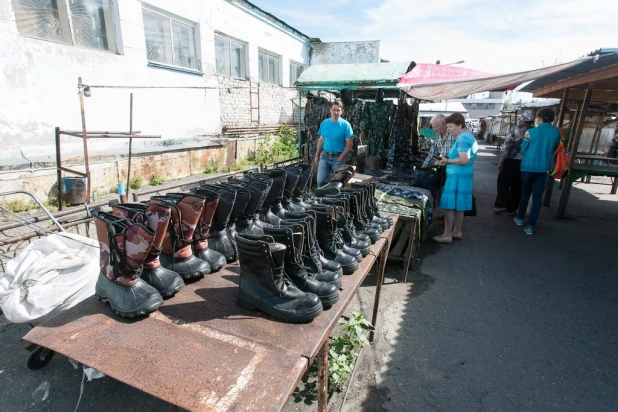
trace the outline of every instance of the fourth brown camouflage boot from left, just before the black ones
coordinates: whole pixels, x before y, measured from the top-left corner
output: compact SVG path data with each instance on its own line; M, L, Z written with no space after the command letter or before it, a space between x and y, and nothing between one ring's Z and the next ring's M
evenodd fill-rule
M212 272L217 272L225 265L227 260L222 253L208 247L208 234L219 206L219 194L206 188L198 188L194 193L204 196L206 203L193 234L193 254L198 259L208 262Z

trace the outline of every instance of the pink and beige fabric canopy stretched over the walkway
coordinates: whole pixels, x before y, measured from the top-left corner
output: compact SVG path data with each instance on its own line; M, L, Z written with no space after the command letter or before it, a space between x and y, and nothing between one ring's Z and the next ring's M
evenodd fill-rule
M585 57L555 66L502 75L491 75L451 66L443 66L447 69L443 70L443 68L423 67L439 65L418 64L401 79L399 87L417 99L457 99L479 92L509 90L522 83L569 69L590 59L590 57ZM417 68L420 68L419 72L416 72Z

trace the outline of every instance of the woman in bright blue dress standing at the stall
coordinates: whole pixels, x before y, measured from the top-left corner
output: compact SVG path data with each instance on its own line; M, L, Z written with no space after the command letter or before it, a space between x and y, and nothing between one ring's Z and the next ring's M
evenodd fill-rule
M444 210L444 233L435 236L438 243L451 243L463 239L464 211L472 210L473 165L478 152L474 135L466 129L466 120L461 113L446 118L446 127L457 140L440 163L446 165L446 182L440 197L440 208Z

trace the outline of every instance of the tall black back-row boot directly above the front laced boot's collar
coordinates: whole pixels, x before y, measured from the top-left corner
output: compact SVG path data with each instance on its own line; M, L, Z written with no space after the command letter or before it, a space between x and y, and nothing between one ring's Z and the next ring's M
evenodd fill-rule
M250 194L242 214L236 219L236 231L238 233L261 235L264 227L268 224L259 220L258 212L266 199L266 195L272 186L270 179L253 179L250 181L230 180L230 184L242 187Z

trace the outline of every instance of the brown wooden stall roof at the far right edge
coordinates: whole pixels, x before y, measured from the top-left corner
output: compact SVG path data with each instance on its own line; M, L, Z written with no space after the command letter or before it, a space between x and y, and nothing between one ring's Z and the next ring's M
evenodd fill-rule
M583 100L589 83L593 84L591 101L618 102L618 48L593 51L584 63L535 80L522 91L534 97L562 98L568 88L569 100Z

